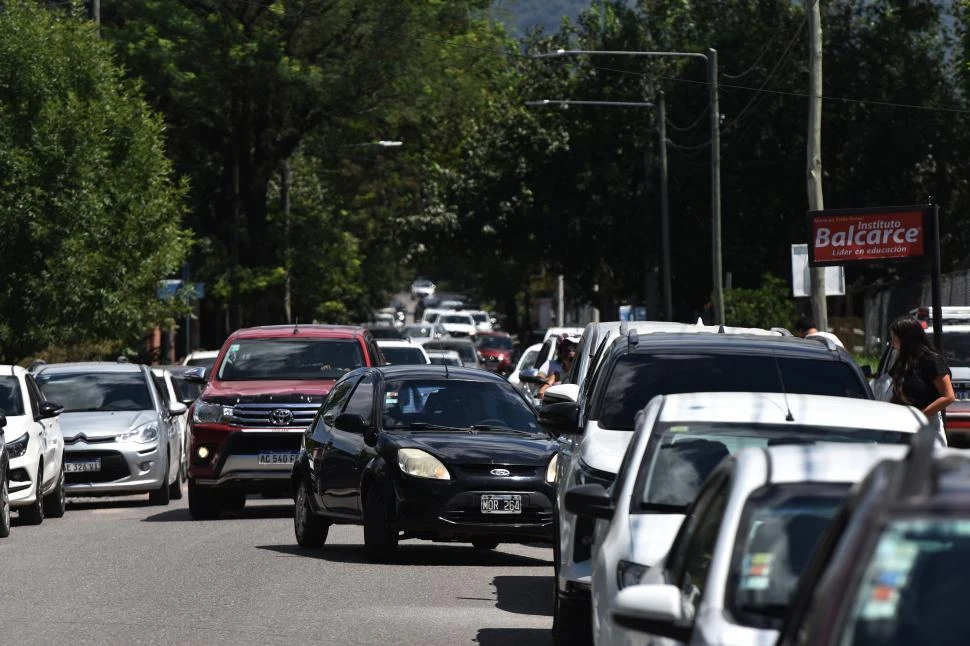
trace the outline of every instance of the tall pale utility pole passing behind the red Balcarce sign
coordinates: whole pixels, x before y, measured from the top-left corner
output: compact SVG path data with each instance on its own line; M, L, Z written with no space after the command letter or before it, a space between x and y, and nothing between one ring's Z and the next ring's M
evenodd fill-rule
M821 211L822 199L822 16L821 0L805 0L809 34L809 90L808 90L808 209ZM825 268L812 267L812 316L819 330L829 328L828 307L825 302Z

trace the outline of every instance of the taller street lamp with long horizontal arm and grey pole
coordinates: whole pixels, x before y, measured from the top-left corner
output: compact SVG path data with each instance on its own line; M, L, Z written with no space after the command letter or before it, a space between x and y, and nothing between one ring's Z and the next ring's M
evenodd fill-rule
M699 52L639 52L584 49L557 49L536 54L535 58L560 56L646 56L658 58L700 58L707 63L707 87L711 113L711 271L714 281L714 323L724 323L724 286L721 269L721 119L717 103L717 50Z

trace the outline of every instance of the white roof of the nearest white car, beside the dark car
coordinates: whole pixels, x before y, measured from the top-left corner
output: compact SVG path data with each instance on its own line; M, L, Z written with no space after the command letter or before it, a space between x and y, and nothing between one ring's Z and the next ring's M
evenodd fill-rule
M903 444L804 444L743 449L738 469L767 467L769 484L794 482L861 482L882 460L899 460Z

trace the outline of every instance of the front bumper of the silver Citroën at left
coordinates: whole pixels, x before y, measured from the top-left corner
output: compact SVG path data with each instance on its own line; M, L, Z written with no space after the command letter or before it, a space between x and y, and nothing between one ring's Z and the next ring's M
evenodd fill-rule
M71 465L95 462L96 470L71 470ZM78 441L64 447L64 470L68 495L83 496L154 491L168 469L157 443Z

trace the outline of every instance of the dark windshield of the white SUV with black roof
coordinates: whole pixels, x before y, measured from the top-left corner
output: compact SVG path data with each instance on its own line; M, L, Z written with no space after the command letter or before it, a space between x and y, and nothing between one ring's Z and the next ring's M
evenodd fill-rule
M779 373L784 380L779 379ZM620 357L590 419L633 430L636 414L657 395L692 392L782 392L866 399L865 384L841 361L771 354L628 354Z

